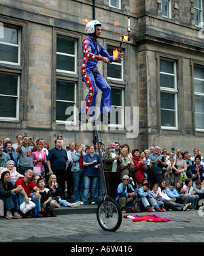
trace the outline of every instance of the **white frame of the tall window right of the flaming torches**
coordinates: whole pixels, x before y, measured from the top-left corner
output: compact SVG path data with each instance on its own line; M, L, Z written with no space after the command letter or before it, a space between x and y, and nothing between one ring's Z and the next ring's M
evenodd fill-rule
M167 109L162 109L161 108L161 102L160 102L160 127L163 130L177 130L178 129L178 116L177 116L177 104L178 104L178 89L177 89L177 61L173 60L173 59L168 59L165 57L160 57L159 59L159 66L160 66L160 60L166 60L166 61L171 61L173 62L173 74L172 73L168 73L168 72L160 72L160 68L159 68L159 78L160 78L160 74L167 74L167 75L171 75L174 76L174 88L169 88L169 87L162 87L160 86L160 94L161 92L165 92L168 94L173 94L174 95L174 99L175 99L175 103L174 103L174 113L175 113L175 126L162 126L161 124L161 119L162 119L162 115L161 115L161 110L167 110ZM160 81L160 79L159 79Z

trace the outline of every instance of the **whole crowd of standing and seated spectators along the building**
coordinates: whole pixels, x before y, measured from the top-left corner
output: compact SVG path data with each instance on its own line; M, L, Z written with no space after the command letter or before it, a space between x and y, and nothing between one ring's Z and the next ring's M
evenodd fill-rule
M0 199L6 218L29 218L20 212L20 204L35 202L37 216L50 216L56 207L78 207L103 200L104 189L99 159L103 160L109 197L121 209L130 199L138 199L147 212L197 210L204 199L204 158L193 154L161 150L131 150L128 144L111 141L109 145L64 145L58 134L50 148L44 139L16 136L0 140ZM67 150L69 147L69 150ZM129 190L129 192L127 191ZM73 203L69 203L73 201Z

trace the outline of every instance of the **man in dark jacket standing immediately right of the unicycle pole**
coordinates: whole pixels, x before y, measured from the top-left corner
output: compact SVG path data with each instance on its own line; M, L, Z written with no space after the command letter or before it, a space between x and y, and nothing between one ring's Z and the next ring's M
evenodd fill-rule
M114 141L109 143L109 148L105 150L104 171L105 182L107 184L107 193L109 197L115 198L116 190L118 188L118 166L122 162L119 158L118 152L115 151Z

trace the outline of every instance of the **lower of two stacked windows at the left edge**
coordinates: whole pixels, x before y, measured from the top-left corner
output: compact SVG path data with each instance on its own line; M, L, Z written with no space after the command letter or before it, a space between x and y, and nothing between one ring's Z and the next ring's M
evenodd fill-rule
M0 73L0 119L18 120L19 76Z

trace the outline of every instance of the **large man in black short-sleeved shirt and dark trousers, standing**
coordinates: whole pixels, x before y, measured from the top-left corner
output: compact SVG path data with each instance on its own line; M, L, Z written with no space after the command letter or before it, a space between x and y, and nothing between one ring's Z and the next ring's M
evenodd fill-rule
M61 139L54 141L54 148L50 150L47 158L50 174L54 173L62 188L62 199L65 199L65 171L67 169L67 152L62 147Z

